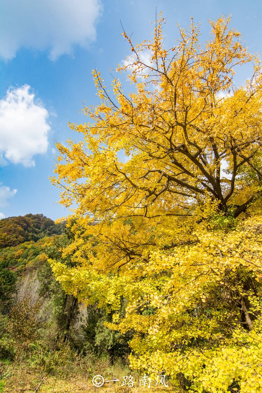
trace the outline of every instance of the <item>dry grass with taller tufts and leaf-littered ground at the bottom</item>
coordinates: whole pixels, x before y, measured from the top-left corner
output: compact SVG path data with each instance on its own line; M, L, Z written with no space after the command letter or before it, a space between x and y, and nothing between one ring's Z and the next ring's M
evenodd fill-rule
M52 361L51 369L40 366L26 353L21 353L14 362L0 364L0 381L2 375L4 382L0 393L178 393L170 382L168 387L155 387L156 382L151 380L150 388L139 388L144 373L130 370L123 360L116 359L114 366L108 366L107 357L66 356L62 350L59 353L61 357ZM92 384L95 375L102 375L105 381L98 389ZM132 375L134 387L121 386L125 375ZM106 382L114 379L120 381Z

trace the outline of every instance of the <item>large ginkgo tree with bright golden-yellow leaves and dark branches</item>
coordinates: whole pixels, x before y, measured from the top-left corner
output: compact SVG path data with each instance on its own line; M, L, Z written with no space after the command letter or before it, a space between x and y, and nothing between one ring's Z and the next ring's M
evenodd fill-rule
M77 206L74 267L49 261L64 290L133 332L131 367L191 392L262 391L262 73L229 22L203 44L192 20L169 50L161 14L152 42L124 31L131 92L93 70L100 103L51 177Z

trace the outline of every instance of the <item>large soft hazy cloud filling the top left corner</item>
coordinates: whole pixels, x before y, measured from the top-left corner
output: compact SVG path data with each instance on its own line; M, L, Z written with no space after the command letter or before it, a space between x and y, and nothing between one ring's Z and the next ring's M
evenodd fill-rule
M0 56L19 48L48 50L51 60L96 38L100 0L0 0Z

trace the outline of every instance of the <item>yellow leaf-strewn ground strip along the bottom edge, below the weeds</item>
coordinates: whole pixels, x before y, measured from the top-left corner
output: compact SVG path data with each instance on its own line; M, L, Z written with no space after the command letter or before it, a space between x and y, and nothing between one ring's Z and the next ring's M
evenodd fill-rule
M168 387L154 386L155 381L151 380L151 386L139 387L139 375L135 371L130 371L128 367L121 367L115 365L114 367L102 368L101 371L94 373L94 370L86 370L75 367L72 373L60 373L56 375L45 375L40 369L33 369L26 365L19 365L9 370L2 375L2 382L0 380L0 393L178 393L170 382L167 382ZM97 388L92 384L92 376L100 374L103 375L104 380L119 379L120 382L104 382L104 385ZM123 376L131 374L133 380L136 382L134 387L121 386ZM2 386L2 387L1 387Z

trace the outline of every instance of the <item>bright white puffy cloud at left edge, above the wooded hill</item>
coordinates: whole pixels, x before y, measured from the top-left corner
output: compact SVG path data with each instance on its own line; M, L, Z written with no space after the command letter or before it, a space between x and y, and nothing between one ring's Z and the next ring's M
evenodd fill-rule
M9 88L0 100L0 153L25 167L35 165L35 154L47 151L50 130L48 111L29 90L28 85Z

